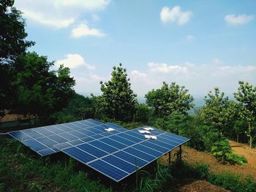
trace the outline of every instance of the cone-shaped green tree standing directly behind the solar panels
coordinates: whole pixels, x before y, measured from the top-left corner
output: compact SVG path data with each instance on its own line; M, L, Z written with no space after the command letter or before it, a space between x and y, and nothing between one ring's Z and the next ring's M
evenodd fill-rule
M134 118L136 111L136 94L133 93L127 70L121 67L113 67L111 80L100 82L102 99L104 100L105 114L109 118L129 121Z

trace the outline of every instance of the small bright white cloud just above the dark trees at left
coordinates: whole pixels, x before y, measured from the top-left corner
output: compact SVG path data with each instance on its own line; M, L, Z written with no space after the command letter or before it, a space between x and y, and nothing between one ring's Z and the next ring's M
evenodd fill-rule
M86 61L84 60L84 58L79 54L69 53L66 55L66 58L56 61L56 66L60 66L61 64L64 64L64 66L67 66L70 69L77 69L82 67L85 67L88 70L95 69L94 66L86 64Z

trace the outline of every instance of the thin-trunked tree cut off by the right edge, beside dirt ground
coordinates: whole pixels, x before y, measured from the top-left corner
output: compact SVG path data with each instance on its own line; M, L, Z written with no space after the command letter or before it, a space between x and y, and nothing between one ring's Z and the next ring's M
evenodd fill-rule
M239 81L239 85L234 96L241 105L240 117L248 123L246 135L249 137L249 147L252 148L253 137L256 133L256 126L254 126L256 120L256 86L244 81Z

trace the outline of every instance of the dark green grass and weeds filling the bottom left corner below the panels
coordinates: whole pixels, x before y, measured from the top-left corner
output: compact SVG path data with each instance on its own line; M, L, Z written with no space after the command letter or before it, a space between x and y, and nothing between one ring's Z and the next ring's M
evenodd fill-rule
M14 139L0 140L0 191L110 191L76 166L73 159L51 162Z

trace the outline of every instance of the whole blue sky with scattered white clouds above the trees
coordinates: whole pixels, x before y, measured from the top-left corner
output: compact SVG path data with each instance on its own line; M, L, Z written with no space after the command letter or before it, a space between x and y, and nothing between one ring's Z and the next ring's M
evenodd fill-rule
M112 67L127 68L138 96L162 82L194 96L256 84L256 1L16 0L29 50L64 64L78 93L100 93Z

